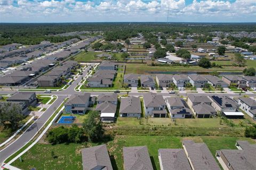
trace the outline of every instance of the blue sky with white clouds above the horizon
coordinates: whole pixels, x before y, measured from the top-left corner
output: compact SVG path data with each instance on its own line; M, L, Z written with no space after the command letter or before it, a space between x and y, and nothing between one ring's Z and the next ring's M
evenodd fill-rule
M256 22L256 0L0 0L0 22Z

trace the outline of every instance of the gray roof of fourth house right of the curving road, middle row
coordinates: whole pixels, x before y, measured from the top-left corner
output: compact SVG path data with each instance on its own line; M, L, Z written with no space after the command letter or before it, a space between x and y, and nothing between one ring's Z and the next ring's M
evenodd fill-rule
M166 105L163 96L154 94L153 92L146 93L143 99L145 107L159 107Z

